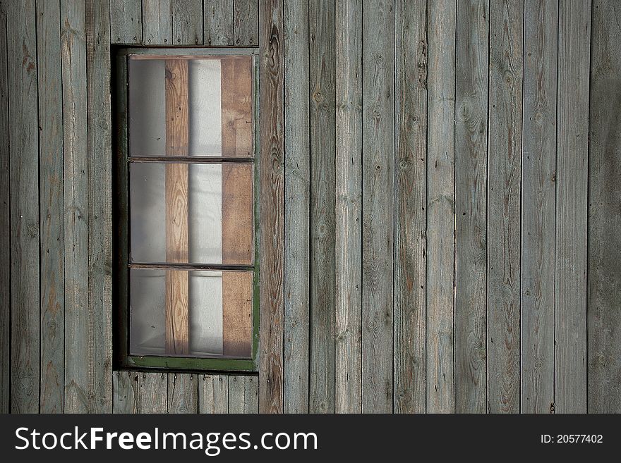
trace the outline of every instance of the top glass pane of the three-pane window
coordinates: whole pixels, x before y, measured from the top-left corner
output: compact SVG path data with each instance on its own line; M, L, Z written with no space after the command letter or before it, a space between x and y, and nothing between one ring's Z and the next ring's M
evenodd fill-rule
M252 57L131 56L129 151L253 156Z

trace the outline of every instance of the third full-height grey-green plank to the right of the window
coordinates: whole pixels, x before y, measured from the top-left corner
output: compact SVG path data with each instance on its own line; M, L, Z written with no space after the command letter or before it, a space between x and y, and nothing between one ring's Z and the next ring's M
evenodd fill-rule
M334 1L311 1L309 23L309 412L334 413Z

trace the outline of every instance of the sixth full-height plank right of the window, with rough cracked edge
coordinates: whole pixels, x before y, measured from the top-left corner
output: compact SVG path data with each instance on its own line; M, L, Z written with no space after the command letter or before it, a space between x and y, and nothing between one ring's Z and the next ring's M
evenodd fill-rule
M427 2L397 1L394 412L426 410Z

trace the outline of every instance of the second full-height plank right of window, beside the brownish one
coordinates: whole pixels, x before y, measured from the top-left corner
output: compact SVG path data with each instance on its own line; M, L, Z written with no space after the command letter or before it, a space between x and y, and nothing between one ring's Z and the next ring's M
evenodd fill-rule
M284 2L284 27L284 412L308 413L308 2Z

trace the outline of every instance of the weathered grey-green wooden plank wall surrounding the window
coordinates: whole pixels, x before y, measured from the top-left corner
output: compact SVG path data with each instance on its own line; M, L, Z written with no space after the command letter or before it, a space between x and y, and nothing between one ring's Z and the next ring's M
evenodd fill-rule
M615 0L0 0L0 411L621 412ZM255 376L112 371L111 46L260 47Z

